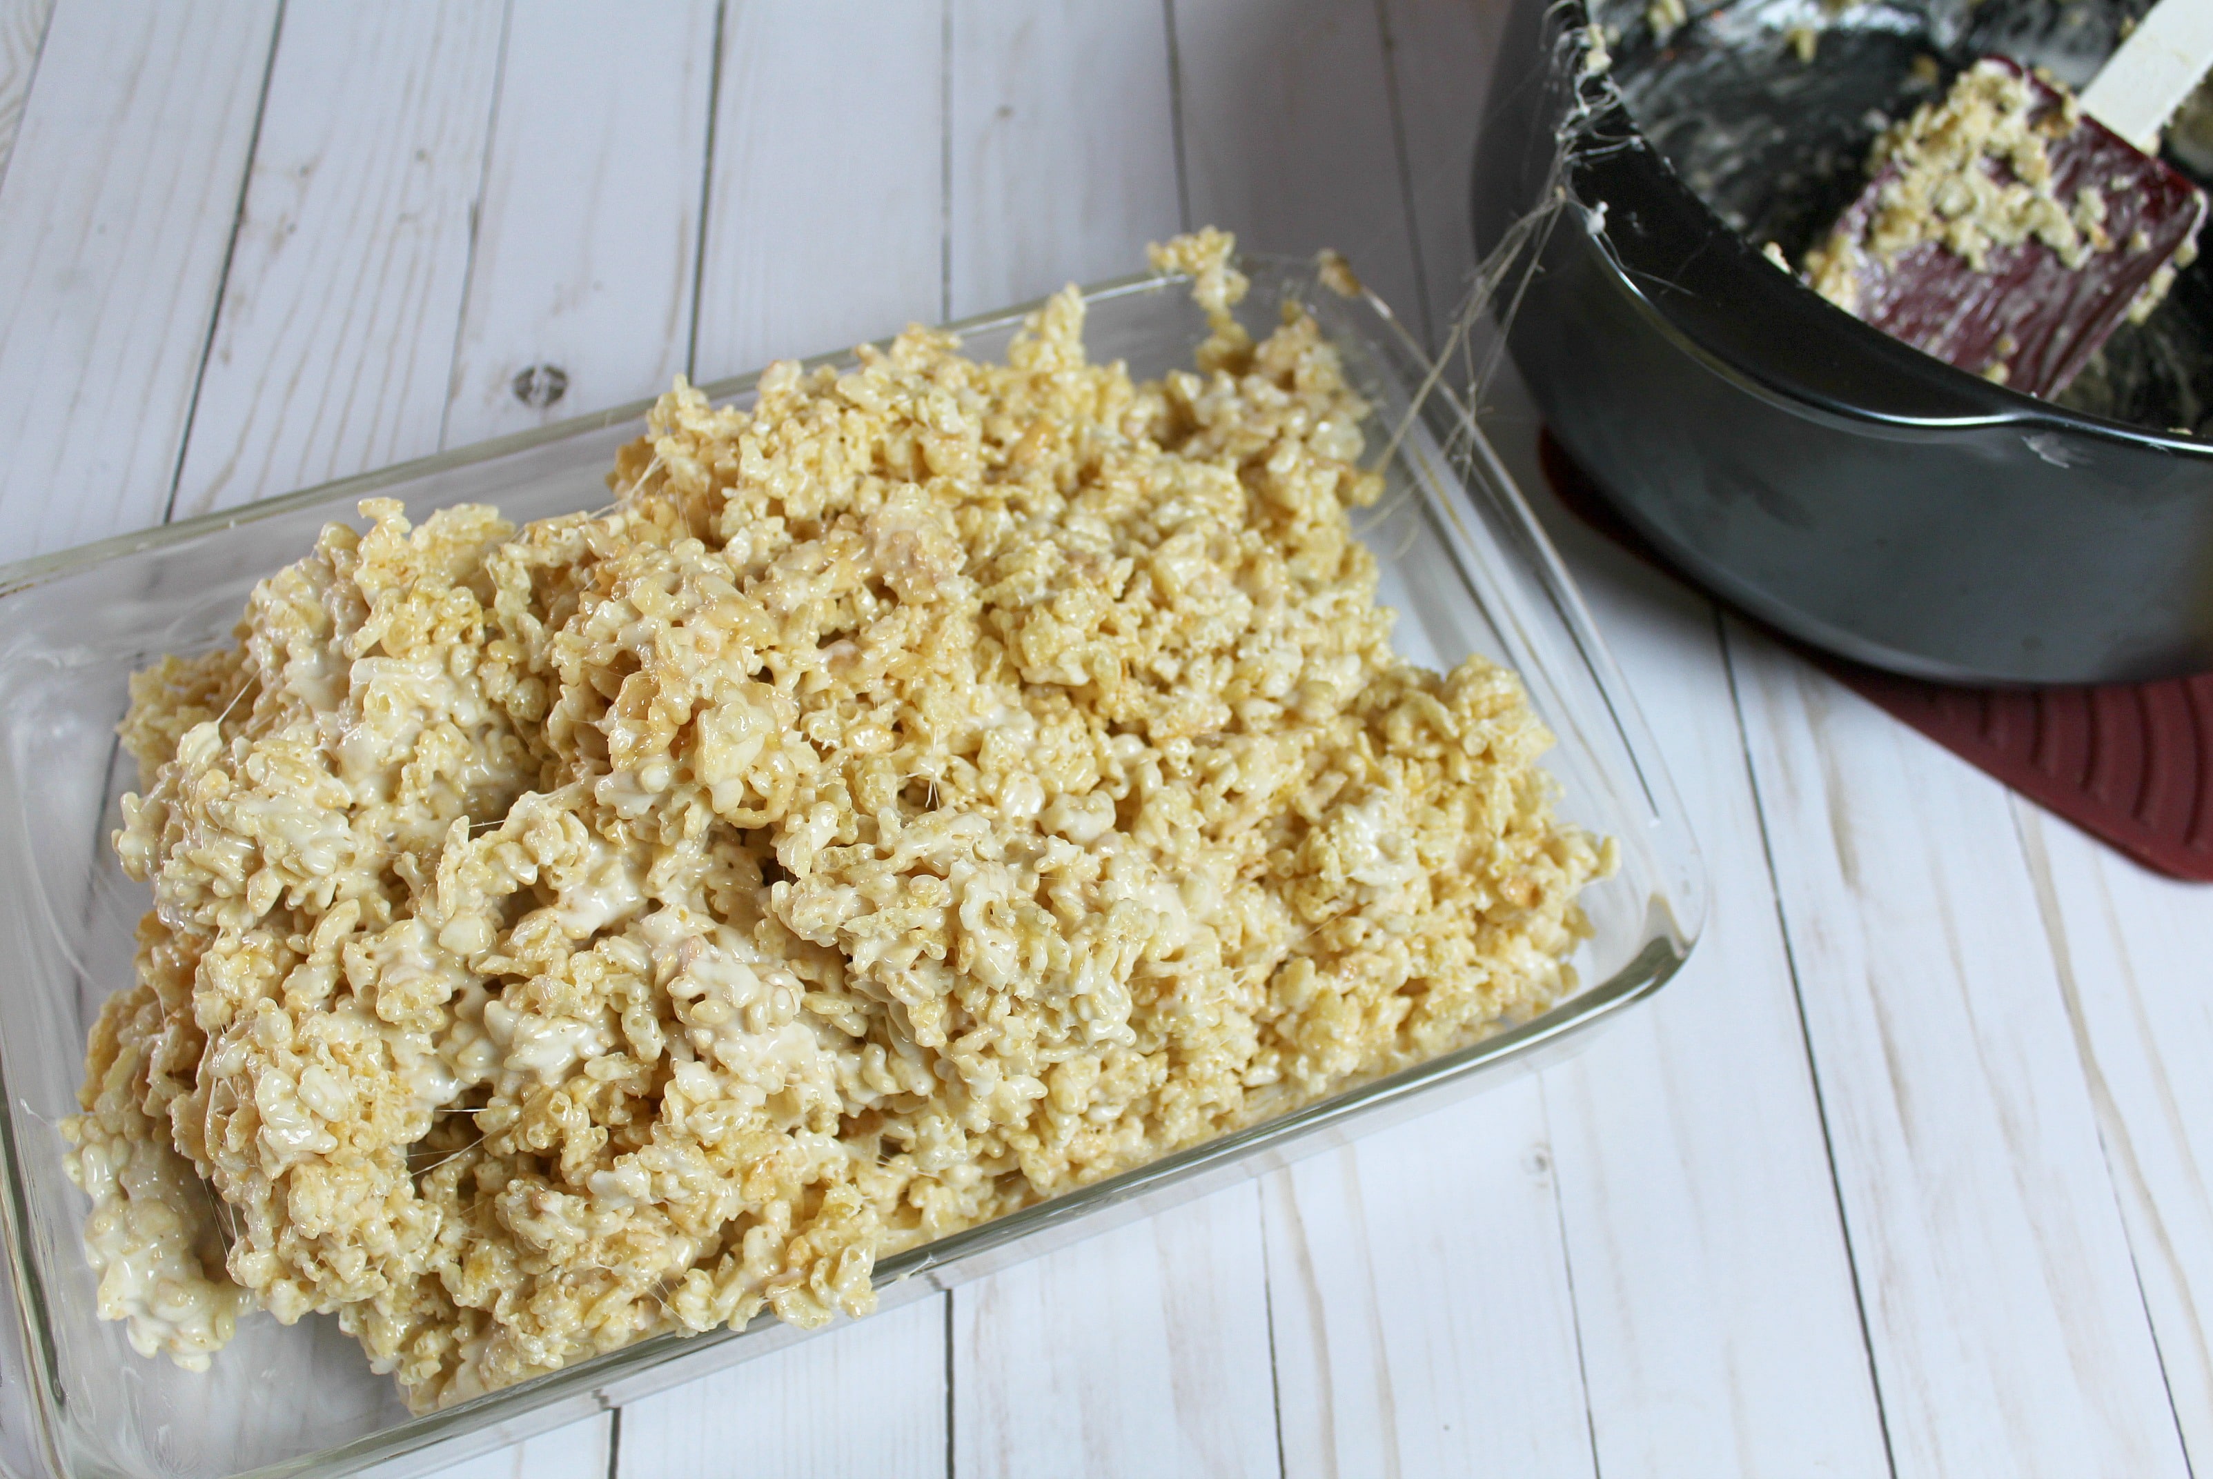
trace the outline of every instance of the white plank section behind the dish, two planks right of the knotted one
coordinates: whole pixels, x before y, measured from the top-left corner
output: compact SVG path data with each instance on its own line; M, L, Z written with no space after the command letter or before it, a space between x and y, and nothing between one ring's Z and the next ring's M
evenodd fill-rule
M1144 270L1180 230L1168 29L1129 0L952 0L947 312Z

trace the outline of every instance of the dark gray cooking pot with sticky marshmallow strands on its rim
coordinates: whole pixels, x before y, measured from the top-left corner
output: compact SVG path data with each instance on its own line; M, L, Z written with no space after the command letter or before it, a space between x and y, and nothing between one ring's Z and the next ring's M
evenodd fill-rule
M1797 261L1857 192L1874 130L1912 106L1916 55L1954 69L2003 51L2080 82L2129 9L1739 0L1662 42L1624 4L1600 9L1611 73L1582 77L1580 0L1514 0L1476 243L1567 188L1529 248L1514 360L1669 559L1786 632L1914 676L2213 668L2213 444L2173 431L2213 431L2204 263L2054 405L1870 329L1750 245ZM1806 18L1826 27L1812 66L1786 40Z

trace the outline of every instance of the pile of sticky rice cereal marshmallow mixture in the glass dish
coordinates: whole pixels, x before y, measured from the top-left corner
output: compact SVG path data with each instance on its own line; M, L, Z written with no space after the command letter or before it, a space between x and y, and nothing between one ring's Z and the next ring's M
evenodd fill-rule
M613 511L370 500L133 681L137 984L64 1125L102 1313L330 1311L434 1408L865 1313L892 1251L1571 988L1514 674L1392 657L1363 402L1155 248L1197 371L910 329L688 385Z

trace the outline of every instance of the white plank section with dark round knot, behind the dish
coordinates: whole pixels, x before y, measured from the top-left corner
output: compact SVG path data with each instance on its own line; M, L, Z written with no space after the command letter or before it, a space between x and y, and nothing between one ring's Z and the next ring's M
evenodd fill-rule
M443 447L657 396L684 369L715 9L516 7ZM624 55L657 57L651 86Z

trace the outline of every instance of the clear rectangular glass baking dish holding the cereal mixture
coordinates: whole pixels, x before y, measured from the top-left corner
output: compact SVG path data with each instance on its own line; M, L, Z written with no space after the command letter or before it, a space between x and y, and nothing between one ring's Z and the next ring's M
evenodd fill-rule
M1390 491L1357 515L1357 531L1399 612L1394 646L1432 668L1485 652L1520 672L1558 736L1547 767L1565 814L1620 840L1620 871L1585 893L1596 933L1576 959L1582 988L1465 1050L887 1258L876 1271L883 1307L1538 1066L1666 982L1697 937L1704 889L1675 791L1480 431L1447 394L1421 396L1430 365L1381 301L1326 287L1306 263L1244 265L1248 325L1266 332L1284 298L1306 303L1376 409L1370 455L1388 451ZM1084 298L1093 358L1122 358L1142 376L1188 365L1206 334L1182 276L1102 283ZM952 327L969 354L1000 358L1029 307ZM710 391L744 402L752 376ZM80 1249L86 1203L62 1174L55 1121L75 1110L86 1026L131 982L133 926L148 902L106 845L117 796L135 783L113 743L126 674L226 639L248 588L303 555L323 522L354 517L354 500L370 493L403 500L412 517L458 502L491 502L518 522L604 504L604 473L642 416L644 405L622 407L0 570L0 959L15 962L0 990L0 1223L15 1304L0 1329L0 1464L71 1479L339 1475L370 1464L403 1475L806 1338L766 1315L744 1331L664 1335L429 1417L409 1417L328 1318L285 1329L250 1315L212 1371L190 1375L135 1355L120 1324L93 1315Z

